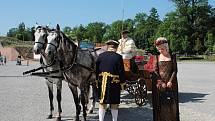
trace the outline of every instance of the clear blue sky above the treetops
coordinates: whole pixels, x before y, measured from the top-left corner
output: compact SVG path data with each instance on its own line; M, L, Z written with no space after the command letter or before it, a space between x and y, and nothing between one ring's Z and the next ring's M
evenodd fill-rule
M158 10L160 18L175 9L170 0L0 0L0 36L10 28L24 22L32 27L36 22L50 26L60 24L75 27L90 22L105 22L133 19L137 13L149 13L152 7ZM215 0L209 0L215 7Z

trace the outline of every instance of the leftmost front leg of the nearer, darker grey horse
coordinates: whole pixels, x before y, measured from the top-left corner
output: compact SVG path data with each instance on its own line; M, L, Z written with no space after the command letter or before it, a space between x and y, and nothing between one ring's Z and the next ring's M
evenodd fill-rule
M79 95L78 95L78 90L77 90L77 87L68 83L69 85L69 88L70 90L72 91L72 95L73 95L73 98L74 98L74 102L75 102L75 107L76 107L76 117L75 117L75 120L76 121L79 121L79 115L80 115L80 112L81 112L81 106L79 105L80 103L80 99L79 99Z

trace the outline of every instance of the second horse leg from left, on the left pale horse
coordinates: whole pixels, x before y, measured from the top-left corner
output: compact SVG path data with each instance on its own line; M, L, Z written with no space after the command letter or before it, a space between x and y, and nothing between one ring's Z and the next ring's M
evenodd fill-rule
M58 102L58 115L57 115L57 120L61 120L61 113L62 113L62 108L61 108L61 91L62 91L62 80L59 80L58 83L56 84L57 86L57 102Z

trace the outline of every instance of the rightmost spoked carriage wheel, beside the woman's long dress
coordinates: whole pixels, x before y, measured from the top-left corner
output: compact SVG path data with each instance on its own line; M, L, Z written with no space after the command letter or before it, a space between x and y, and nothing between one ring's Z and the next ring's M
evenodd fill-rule
M138 87L135 91L135 103L142 106L146 102L147 98L147 87L144 79L138 79Z

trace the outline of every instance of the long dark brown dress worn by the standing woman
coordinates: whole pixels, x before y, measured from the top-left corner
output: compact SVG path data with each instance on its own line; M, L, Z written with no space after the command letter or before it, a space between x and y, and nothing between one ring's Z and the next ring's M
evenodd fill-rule
M175 55L171 56L171 61L159 61L159 56L154 60L155 72L152 74L153 80L153 119L154 121L179 121L178 105L178 82L177 82L177 62ZM167 84L172 82L172 88L158 89L157 80Z

